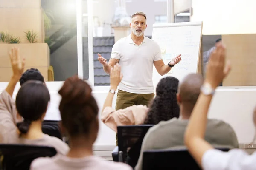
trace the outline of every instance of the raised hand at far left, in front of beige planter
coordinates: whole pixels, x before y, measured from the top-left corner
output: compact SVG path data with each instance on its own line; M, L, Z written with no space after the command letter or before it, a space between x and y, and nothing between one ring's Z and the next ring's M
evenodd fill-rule
M24 71L25 58L21 58L18 48L12 48L9 52L13 76L20 78Z

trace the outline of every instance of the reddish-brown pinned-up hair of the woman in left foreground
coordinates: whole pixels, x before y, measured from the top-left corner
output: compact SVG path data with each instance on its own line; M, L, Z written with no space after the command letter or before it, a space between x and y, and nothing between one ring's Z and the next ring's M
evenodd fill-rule
M98 119L99 108L91 92L90 85L77 76L66 79L58 92L62 125L71 137L90 134Z

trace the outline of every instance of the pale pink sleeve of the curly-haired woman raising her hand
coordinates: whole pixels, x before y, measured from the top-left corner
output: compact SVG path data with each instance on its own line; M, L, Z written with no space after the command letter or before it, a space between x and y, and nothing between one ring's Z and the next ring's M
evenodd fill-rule
M117 111L111 107L106 107L101 114L101 120L117 132L117 126L143 124L147 111L148 108L143 105L133 105Z

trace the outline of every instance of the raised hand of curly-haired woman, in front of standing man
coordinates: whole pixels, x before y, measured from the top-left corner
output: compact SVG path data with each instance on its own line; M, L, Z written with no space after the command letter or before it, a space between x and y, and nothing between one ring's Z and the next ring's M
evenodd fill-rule
M122 80L121 66L116 63L114 68L111 68L110 71L110 88L116 90L117 86Z

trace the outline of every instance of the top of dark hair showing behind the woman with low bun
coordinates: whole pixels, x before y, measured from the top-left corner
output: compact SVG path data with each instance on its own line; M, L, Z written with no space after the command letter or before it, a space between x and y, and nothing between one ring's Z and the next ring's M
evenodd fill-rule
M20 86L23 85L28 80L38 80L44 82L44 77L40 71L36 68L27 69L20 77Z

